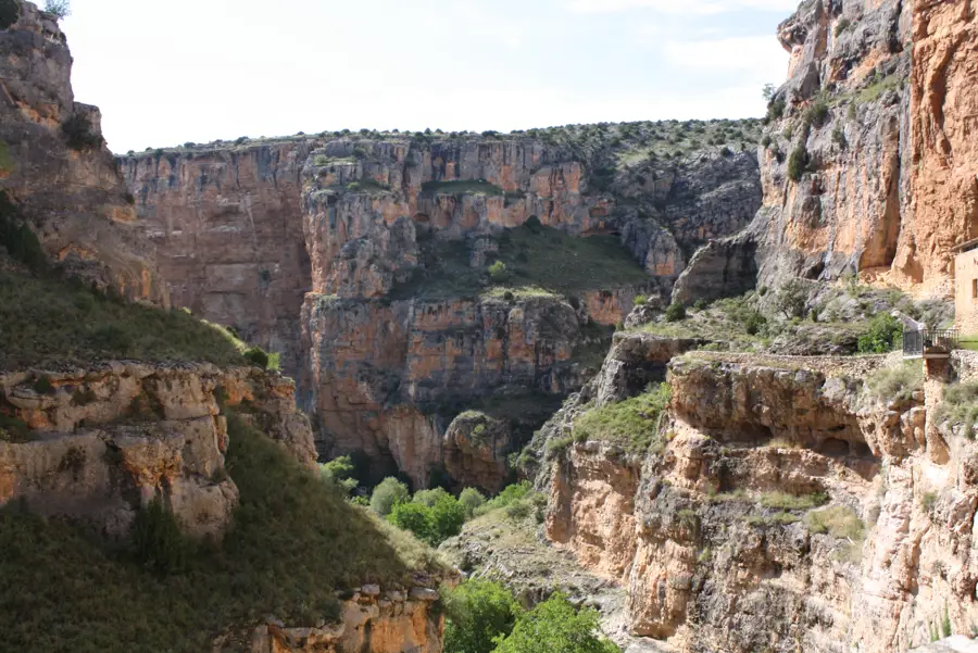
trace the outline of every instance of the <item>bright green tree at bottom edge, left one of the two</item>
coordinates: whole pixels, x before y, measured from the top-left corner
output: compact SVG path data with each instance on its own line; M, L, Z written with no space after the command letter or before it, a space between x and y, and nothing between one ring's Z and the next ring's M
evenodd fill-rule
M521 613L509 590L487 580L463 582L446 597L444 611L444 653L492 653Z

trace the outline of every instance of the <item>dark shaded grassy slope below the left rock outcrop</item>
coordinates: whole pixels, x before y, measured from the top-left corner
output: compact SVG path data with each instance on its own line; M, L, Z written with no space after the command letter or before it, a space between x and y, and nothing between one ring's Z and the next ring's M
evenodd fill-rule
M226 628L266 615L312 626L338 616L338 588L440 566L234 416L229 431L241 492L233 529L189 551L180 573L150 572L60 520L0 511L0 649L200 653Z

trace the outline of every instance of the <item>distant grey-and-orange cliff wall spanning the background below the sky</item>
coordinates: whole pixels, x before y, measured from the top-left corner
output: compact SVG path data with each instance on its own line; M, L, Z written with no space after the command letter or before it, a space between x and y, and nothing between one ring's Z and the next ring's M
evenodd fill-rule
M364 451L376 473L422 485L451 467L491 490L540 407L593 371L602 327L667 291L688 252L760 202L749 153L700 146L618 165L625 146L610 143L638 148L668 127L591 127L566 141L239 139L131 154L123 168L174 302L284 354L324 453ZM735 123L688 127L747 138ZM490 279L493 261L506 272ZM531 414L513 407L531 397ZM486 403L507 436L462 453L448 427Z

